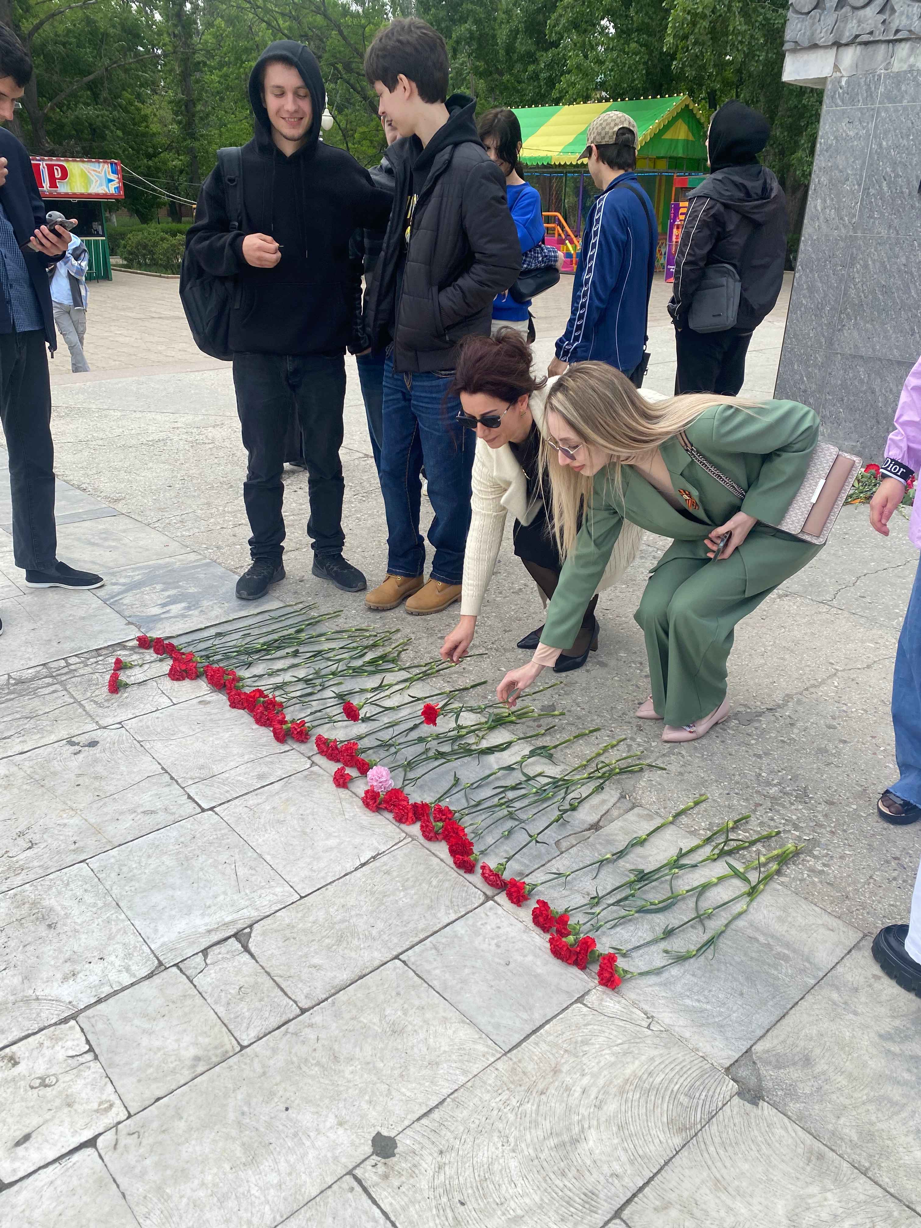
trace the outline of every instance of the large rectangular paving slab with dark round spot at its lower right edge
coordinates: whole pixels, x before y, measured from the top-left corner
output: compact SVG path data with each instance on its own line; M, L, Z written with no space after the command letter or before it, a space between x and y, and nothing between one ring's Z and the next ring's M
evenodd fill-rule
M275 1228L500 1050L391 963L99 1140L141 1228ZM348 1106L344 1111L344 1106Z

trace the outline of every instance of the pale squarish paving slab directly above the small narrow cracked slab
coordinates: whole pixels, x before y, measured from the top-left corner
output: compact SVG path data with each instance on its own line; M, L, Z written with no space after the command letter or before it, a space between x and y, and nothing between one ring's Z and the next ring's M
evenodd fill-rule
M210 810L102 853L91 866L165 964L178 963L296 899L287 883Z

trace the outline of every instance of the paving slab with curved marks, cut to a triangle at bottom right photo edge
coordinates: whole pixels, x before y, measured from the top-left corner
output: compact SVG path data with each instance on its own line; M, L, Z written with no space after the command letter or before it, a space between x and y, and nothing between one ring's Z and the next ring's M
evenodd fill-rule
M921 1228L768 1104L732 1099L623 1212L629 1228Z

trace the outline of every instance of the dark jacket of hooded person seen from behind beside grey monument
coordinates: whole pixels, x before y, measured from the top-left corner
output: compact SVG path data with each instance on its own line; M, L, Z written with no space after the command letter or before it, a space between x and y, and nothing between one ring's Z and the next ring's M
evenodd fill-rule
M684 328L709 264L731 264L742 298L731 333L752 333L774 307L783 284L787 200L776 176L753 162L713 171L688 194L688 214L675 253L668 311Z

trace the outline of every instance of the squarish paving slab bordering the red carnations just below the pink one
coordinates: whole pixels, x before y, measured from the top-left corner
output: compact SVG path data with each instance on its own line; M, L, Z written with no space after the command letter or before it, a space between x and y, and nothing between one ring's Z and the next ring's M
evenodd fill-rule
M247 793L217 813L298 895L341 878L403 839L395 824L371 814L316 770Z

